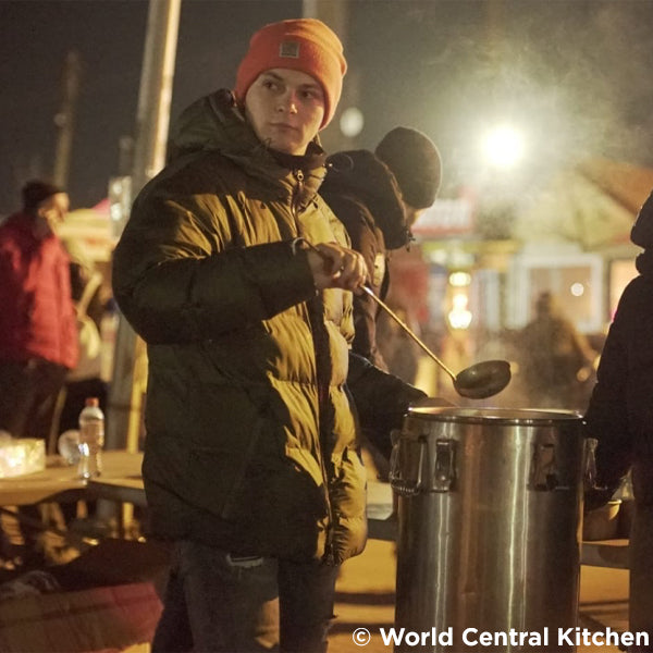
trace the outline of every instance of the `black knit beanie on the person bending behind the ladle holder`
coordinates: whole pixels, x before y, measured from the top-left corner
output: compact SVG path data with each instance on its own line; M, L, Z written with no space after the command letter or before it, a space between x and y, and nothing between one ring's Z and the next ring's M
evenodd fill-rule
M395 127L374 152L395 175L404 200L415 209L427 209L440 189L442 161L435 144L422 132Z

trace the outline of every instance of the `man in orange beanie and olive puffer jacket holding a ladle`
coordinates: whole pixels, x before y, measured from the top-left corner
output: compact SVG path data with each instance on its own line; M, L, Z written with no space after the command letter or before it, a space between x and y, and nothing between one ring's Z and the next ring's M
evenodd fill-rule
M234 91L186 109L116 247L148 345L144 480L174 542L153 651L322 651L338 565L366 541L361 421L420 391L350 355L362 257L319 197L342 45L264 26Z

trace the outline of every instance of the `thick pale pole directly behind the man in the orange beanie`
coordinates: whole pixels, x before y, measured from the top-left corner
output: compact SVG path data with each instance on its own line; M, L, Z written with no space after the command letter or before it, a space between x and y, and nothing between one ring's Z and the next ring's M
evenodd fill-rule
M136 114L134 196L163 168L165 160L181 0L149 2ZM109 391L108 448L137 449L146 377L145 344L121 315Z

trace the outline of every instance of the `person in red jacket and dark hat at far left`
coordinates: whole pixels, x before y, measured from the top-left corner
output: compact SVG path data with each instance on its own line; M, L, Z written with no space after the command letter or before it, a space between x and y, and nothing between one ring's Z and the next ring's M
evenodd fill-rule
M77 362L70 260L56 235L67 210L64 190L32 181L23 209L0 225L0 430L14 438L48 442L57 396Z

